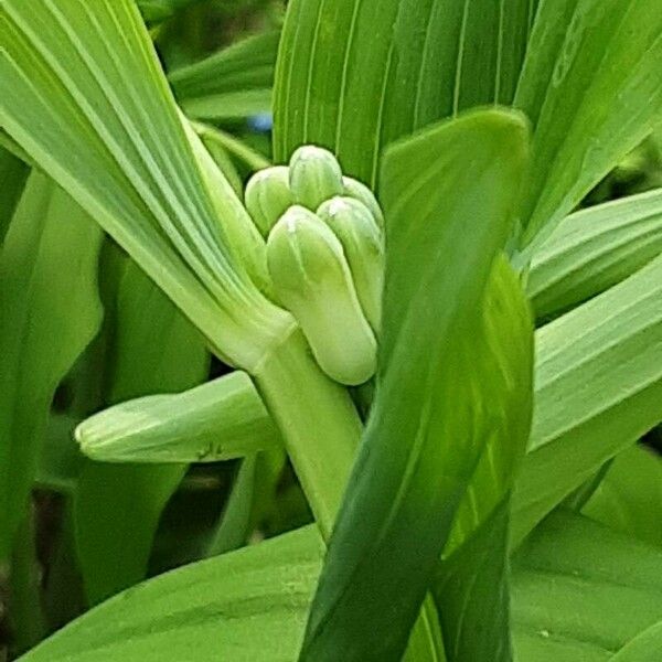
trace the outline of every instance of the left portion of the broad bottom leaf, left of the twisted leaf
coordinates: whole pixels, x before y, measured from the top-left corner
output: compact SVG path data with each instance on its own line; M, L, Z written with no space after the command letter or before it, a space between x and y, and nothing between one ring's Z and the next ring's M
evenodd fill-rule
M22 662L292 662L320 572L314 526L161 575L93 609ZM193 653L194 651L194 653Z

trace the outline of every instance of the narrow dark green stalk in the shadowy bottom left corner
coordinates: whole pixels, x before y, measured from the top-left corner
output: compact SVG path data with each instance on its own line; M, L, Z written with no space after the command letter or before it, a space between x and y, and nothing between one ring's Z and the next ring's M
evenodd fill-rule
M9 576L9 604L18 652L31 649L46 634L34 535L29 512L17 531Z

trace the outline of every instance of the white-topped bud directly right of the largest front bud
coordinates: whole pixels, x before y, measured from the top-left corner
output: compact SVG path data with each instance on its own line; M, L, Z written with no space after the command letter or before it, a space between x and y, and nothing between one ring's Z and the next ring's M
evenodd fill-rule
M323 202L318 216L342 244L356 288L356 295L371 327L382 321L384 288L384 239L371 211L353 197L332 197Z

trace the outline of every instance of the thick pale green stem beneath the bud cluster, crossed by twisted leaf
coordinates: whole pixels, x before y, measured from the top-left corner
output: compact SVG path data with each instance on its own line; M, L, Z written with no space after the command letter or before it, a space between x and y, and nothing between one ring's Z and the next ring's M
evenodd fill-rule
M299 329L254 371L254 378L329 542L363 431L356 408L346 388L322 373ZM430 596L412 630L405 660L445 660Z

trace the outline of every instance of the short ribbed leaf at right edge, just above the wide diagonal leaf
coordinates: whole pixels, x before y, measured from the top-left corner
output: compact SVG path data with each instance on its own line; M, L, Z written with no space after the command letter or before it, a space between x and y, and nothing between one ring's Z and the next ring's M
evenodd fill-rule
M526 291L540 318L581 303L662 253L662 191L572 214L533 255Z

